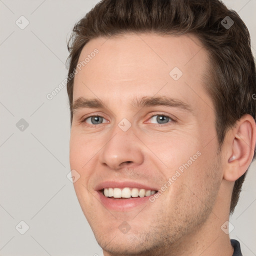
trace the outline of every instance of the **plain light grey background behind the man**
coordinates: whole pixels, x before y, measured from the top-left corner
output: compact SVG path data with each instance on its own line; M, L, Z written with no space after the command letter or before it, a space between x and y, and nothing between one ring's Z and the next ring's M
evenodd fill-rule
M0 255L100 254L69 172L66 40L98 0L0 0ZM246 23L256 53L256 0L224 0ZM23 15L29 24L20 29ZM21 21L19 21L21 22ZM23 19L22 24L25 21ZM29 126L20 131L16 123ZM256 164L230 222L244 255L256 255ZM22 235L15 226L25 221ZM102 219L102 221L104 221ZM19 228L18 228L19 227ZM24 228L24 224L17 229Z

